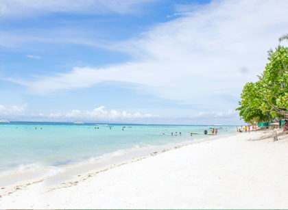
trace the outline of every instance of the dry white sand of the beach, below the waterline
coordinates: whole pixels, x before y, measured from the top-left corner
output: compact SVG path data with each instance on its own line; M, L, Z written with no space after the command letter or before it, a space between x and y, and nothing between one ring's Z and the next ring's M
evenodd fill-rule
M179 146L61 185L19 183L0 190L0 208L287 209L288 138L268 136L237 133Z

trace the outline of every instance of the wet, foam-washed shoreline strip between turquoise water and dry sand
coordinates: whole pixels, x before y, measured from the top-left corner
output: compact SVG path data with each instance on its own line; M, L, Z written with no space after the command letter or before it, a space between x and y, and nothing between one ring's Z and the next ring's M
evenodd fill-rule
M149 157L153 153L161 153L163 150L171 150L173 147L187 146L198 142L217 140L221 137L237 135L237 133L225 133L213 136L203 136L190 139L187 138L181 142L167 142L165 144L149 144L143 147L132 147L115 150L112 153L105 153L97 157L89 157L81 161L64 164L62 166L41 166L30 163L23 168L27 170L16 169L3 171L0 174L0 188L13 187L16 185L25 185L25 183L38 183L45 181L47 185L58 185L70 179L74 179L79 174L85 174L93 170L101 170L109 166L129 162L132 159ZM1 194L1 189L0 189Z

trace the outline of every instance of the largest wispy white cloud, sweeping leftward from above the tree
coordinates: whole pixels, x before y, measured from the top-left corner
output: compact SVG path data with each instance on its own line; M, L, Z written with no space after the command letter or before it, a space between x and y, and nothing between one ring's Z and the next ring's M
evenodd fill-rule
M287 7L285 0L213 1L146 31L141 38L115 44L130 53L133 62L75 67L32 81L10 80L37 94L120 81L163 99L235 106L243 84L263 71L266 51L288 28Z

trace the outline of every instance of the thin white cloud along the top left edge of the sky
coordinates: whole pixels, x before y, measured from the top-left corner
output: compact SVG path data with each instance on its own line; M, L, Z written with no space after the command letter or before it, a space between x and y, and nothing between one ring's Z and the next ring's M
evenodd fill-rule
M48 12L127 14L151 1L157 0L1 0L0 16L35 16Z

